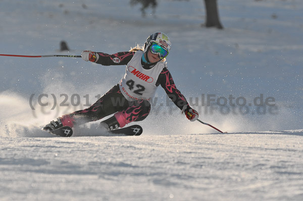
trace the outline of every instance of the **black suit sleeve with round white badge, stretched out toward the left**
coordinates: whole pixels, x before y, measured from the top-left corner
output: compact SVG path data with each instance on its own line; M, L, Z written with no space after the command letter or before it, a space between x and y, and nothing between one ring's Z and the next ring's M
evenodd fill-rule
M126 65L134 56L135 52L118 52L116 54L107 54L97 52L99 59L96 63L102 65Z

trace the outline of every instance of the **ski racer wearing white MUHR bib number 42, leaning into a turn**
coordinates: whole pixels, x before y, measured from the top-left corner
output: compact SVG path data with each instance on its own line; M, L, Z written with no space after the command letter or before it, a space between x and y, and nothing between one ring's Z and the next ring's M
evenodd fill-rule
M74 127L111 114L114 115L100 123L100 126L106 127L107 130L141 121L149 114L149 101L154 97L159 85L190 121L196 120L198 112L189 106L176 88L167 69L166 57L170 49L169 37L156 32L148 36L143 48L137 45L130 51L116 54L83 51L81 57L85 61L102 65L126 65L124 77L89 108L58 117L57 121L51 121L42 129L52 131L62 126Z

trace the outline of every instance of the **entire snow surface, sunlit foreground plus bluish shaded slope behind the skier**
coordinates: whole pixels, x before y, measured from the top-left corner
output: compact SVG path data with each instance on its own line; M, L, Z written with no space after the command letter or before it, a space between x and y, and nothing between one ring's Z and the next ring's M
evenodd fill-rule
M124 66L81 58L0 56L0 200L302 200L303 2L218 0L224 30L201 27L203 1L159 1L155 13L124 1L0 2L1 54L127 51L155 31L172 40L169 70L199 122L158 102L139 137L40 131L117 84ZM65 40L69 52L60 52ZM37 104L39 94L48 94ZM66 94L70 107L53 107ZM81 104L71 106L78 94ZM203 94L247 100L201 106ZM273 97L275 107L254 99ZM32 101L31 101L32 97ZM224 99L221 99L224 100ZM30 103L35 108L32 110ZM249 106L249 104L251 104ZM247 107L246 107L247 106ZM221 108L222 109L222 108ZM96 123L85 125L94 127Z

